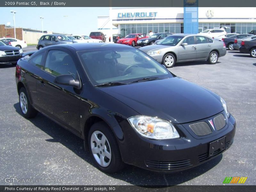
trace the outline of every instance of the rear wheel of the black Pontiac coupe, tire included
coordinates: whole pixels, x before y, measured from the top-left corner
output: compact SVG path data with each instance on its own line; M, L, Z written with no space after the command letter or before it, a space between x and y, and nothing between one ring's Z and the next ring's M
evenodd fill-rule
M25 118L33 118L37 115L36 109L34 109L30 104L28 93L24 87L20 88L19 102L22 116L24 116Z

